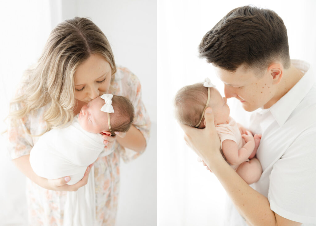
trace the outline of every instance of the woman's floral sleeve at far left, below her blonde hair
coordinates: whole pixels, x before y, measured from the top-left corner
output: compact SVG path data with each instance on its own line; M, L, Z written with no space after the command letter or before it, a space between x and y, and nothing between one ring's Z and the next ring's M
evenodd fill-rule
M18 110L21 106L15 104L11 110ZM9 118L8 120L7 151L11 160L30 154L33 147L30 131L30 119L25 116L21 119Z

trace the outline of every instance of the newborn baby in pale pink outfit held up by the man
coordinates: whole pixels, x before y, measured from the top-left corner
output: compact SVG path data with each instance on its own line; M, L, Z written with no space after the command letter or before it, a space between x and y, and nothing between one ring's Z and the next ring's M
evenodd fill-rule
M226 102L227 98L223 98L210 80L206 79L204 84L188 85L177 92L176 118L185 125L204 129L204 111L207 107L211 107L216 131L221 140L220 151L224 159L242 179L252 184L259 180L262 173L259 160L253 158L257 151L255 139L259 142L261 135L255 135L254 138L249 131L242 135L235 120L229 116Z

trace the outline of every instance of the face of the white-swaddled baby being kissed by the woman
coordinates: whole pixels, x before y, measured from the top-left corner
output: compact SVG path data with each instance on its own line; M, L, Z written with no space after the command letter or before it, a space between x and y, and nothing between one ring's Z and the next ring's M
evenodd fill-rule
M82 129L90 133L109 130L107 113L101 111L104 104L105 101L101 97L97 97L81 108L78 121Z

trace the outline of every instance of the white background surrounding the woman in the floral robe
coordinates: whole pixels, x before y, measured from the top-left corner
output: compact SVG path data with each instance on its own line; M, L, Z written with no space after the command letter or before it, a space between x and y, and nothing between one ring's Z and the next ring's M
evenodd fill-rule
M152 121L145 153L128 164L121 161L116 225L156 225L156 1L31 0L0 5L0 131L15 85L40 57L52 28L74 16L89 17L109 40L116 64L139 78ZM0 224L26 225L25 177L7 159L4 136L0 144Z

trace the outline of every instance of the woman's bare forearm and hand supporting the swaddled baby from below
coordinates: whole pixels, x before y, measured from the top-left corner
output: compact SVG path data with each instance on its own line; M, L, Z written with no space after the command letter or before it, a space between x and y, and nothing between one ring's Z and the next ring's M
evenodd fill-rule
M59 179L46 179L43 177L38 176L36 173L34 173L30 160L30 155L23 155L19 158L13 159L12 162L15 164L15 166L30 180L32 180L37 185L54 191L77 191L78 188L86 185L88 183L88 176L90 172L90 168L93 164L88 166L83 178L74 185L67 185L66 183L69 181L65 181L65 178L59 178Z

